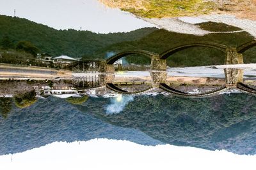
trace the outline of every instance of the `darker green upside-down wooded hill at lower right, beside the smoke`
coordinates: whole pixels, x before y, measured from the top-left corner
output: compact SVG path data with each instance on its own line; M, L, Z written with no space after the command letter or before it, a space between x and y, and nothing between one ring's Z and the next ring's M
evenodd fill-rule
M94 103L95 105L93 105ZM97 104L96 104L97 103ZM109 124L140 129L163 143L256 153L256 97L230 94L204 99L135 97L122 113L105 115L104 101L90 100L83 110Z

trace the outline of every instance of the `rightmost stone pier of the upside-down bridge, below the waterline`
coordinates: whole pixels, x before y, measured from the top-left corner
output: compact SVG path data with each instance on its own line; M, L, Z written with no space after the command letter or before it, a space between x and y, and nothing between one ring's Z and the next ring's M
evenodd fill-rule
M243 69L224 69L226 86L236 87L237 83L243 82Z

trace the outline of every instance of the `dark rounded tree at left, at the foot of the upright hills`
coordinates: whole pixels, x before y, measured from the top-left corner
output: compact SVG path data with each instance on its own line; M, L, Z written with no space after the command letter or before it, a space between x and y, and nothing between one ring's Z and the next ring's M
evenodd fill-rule
M37 48L29 41L19 41L16 46L16 50L31 53L34 57L36 57L37 53L40 51L39 48Z

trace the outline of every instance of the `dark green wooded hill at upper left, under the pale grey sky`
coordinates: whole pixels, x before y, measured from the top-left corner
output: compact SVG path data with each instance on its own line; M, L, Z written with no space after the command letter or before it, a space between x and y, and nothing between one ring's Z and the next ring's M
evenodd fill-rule
M122 41L140 39L156 28L144 28L131 32L97 34L74 29L56 30L46 25L36 24L24 18L0 15L0 41L8 36L16 44L18 41L30 41L41 52L50 55L69 55L71 57L90 57L100 48Z

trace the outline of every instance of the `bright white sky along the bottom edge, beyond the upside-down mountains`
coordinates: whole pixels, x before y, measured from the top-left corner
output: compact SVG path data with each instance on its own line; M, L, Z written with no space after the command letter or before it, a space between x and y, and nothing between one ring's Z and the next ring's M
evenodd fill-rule
M255 169L254 156L199 148L92 139L0 156L1 169Z

